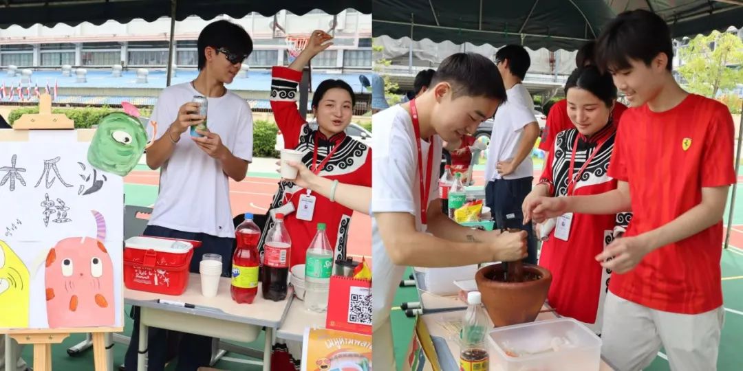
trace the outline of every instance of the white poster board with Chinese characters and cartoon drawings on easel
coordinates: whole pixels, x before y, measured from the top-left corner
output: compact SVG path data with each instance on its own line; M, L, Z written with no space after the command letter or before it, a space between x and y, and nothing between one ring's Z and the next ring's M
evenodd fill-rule
M76 131L0 142L0 329L123 326L123 177Z

